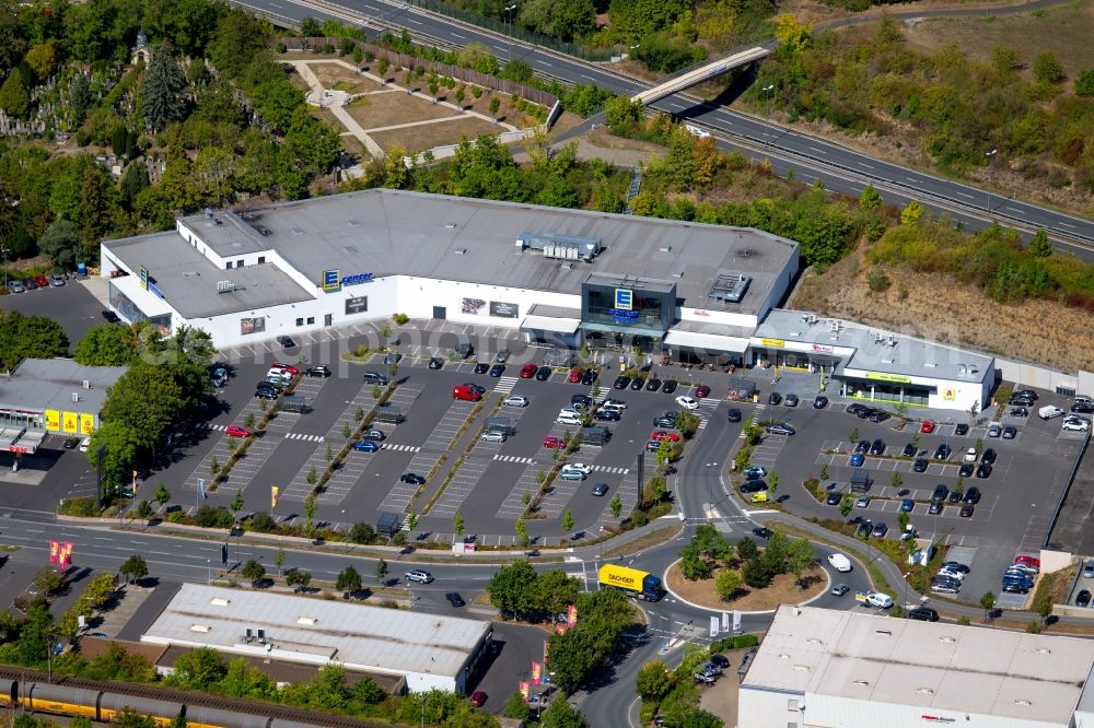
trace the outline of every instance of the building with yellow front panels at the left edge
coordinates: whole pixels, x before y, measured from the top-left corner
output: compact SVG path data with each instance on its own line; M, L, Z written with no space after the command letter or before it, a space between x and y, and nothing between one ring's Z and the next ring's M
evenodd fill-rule
M25 359L0 375L0 450L33 455L49 434L88 436L98 427L106 388L125 366Z

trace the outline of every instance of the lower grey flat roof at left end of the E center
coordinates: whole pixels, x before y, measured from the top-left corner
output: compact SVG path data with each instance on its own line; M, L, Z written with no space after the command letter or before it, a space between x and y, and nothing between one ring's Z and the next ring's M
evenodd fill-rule
M198 222L205 220L203 215L197 218ZM195 232L203 235L208 231L199 224ZM147 268L155 287L185 318L220 316L315 297L271 262L231 270L217 268L175 231L108 240L103 245L133 272L141 266ZM221 281L231 282L234 289L219 293Z

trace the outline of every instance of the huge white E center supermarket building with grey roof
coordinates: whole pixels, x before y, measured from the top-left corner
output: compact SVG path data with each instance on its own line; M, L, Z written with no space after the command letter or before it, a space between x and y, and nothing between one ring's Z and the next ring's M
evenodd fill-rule
M218 347L406 314L741 362L798 268L754 230L391 189L102 244L114 310Z

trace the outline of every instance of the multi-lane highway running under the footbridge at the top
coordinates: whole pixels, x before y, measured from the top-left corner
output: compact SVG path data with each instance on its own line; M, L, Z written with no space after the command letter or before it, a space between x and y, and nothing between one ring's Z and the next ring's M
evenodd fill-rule
M585 63L499 37L404 3L382 0L341 0L337 4L290 0L233 2L292 21L305 16L358 23L364 21L366 28L373 34L380 27L405 27L412 36L451 47L480 43L489 47L499 59L524 60L537 73L552 75L569 83L593 83L628 96L635 96L649 87L648 84L620 75L606 66ZM1059 249L1073 251L1085 260L1094 260L1094 221L876 160L846 146L798 133L725 107L703 104L680 94L659 101L652 107L699 122L722 137L722 145L725 148L769 158L772 167L780 174L793 168L800 179L812 181L819 177L827 189L847 195L858 195L866 184L873 184L891 203L903 204L907 200L917 199L959 221L967 230L980 230L992 220L1026 230L1043 227L1052 235Z

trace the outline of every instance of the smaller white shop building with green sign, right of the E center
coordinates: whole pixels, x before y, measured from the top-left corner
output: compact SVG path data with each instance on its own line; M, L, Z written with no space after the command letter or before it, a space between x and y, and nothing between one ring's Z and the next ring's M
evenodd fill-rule
M996 385L992 356L801 310L771 310L750 344L750 364L815 372L886 404L982 410Z

